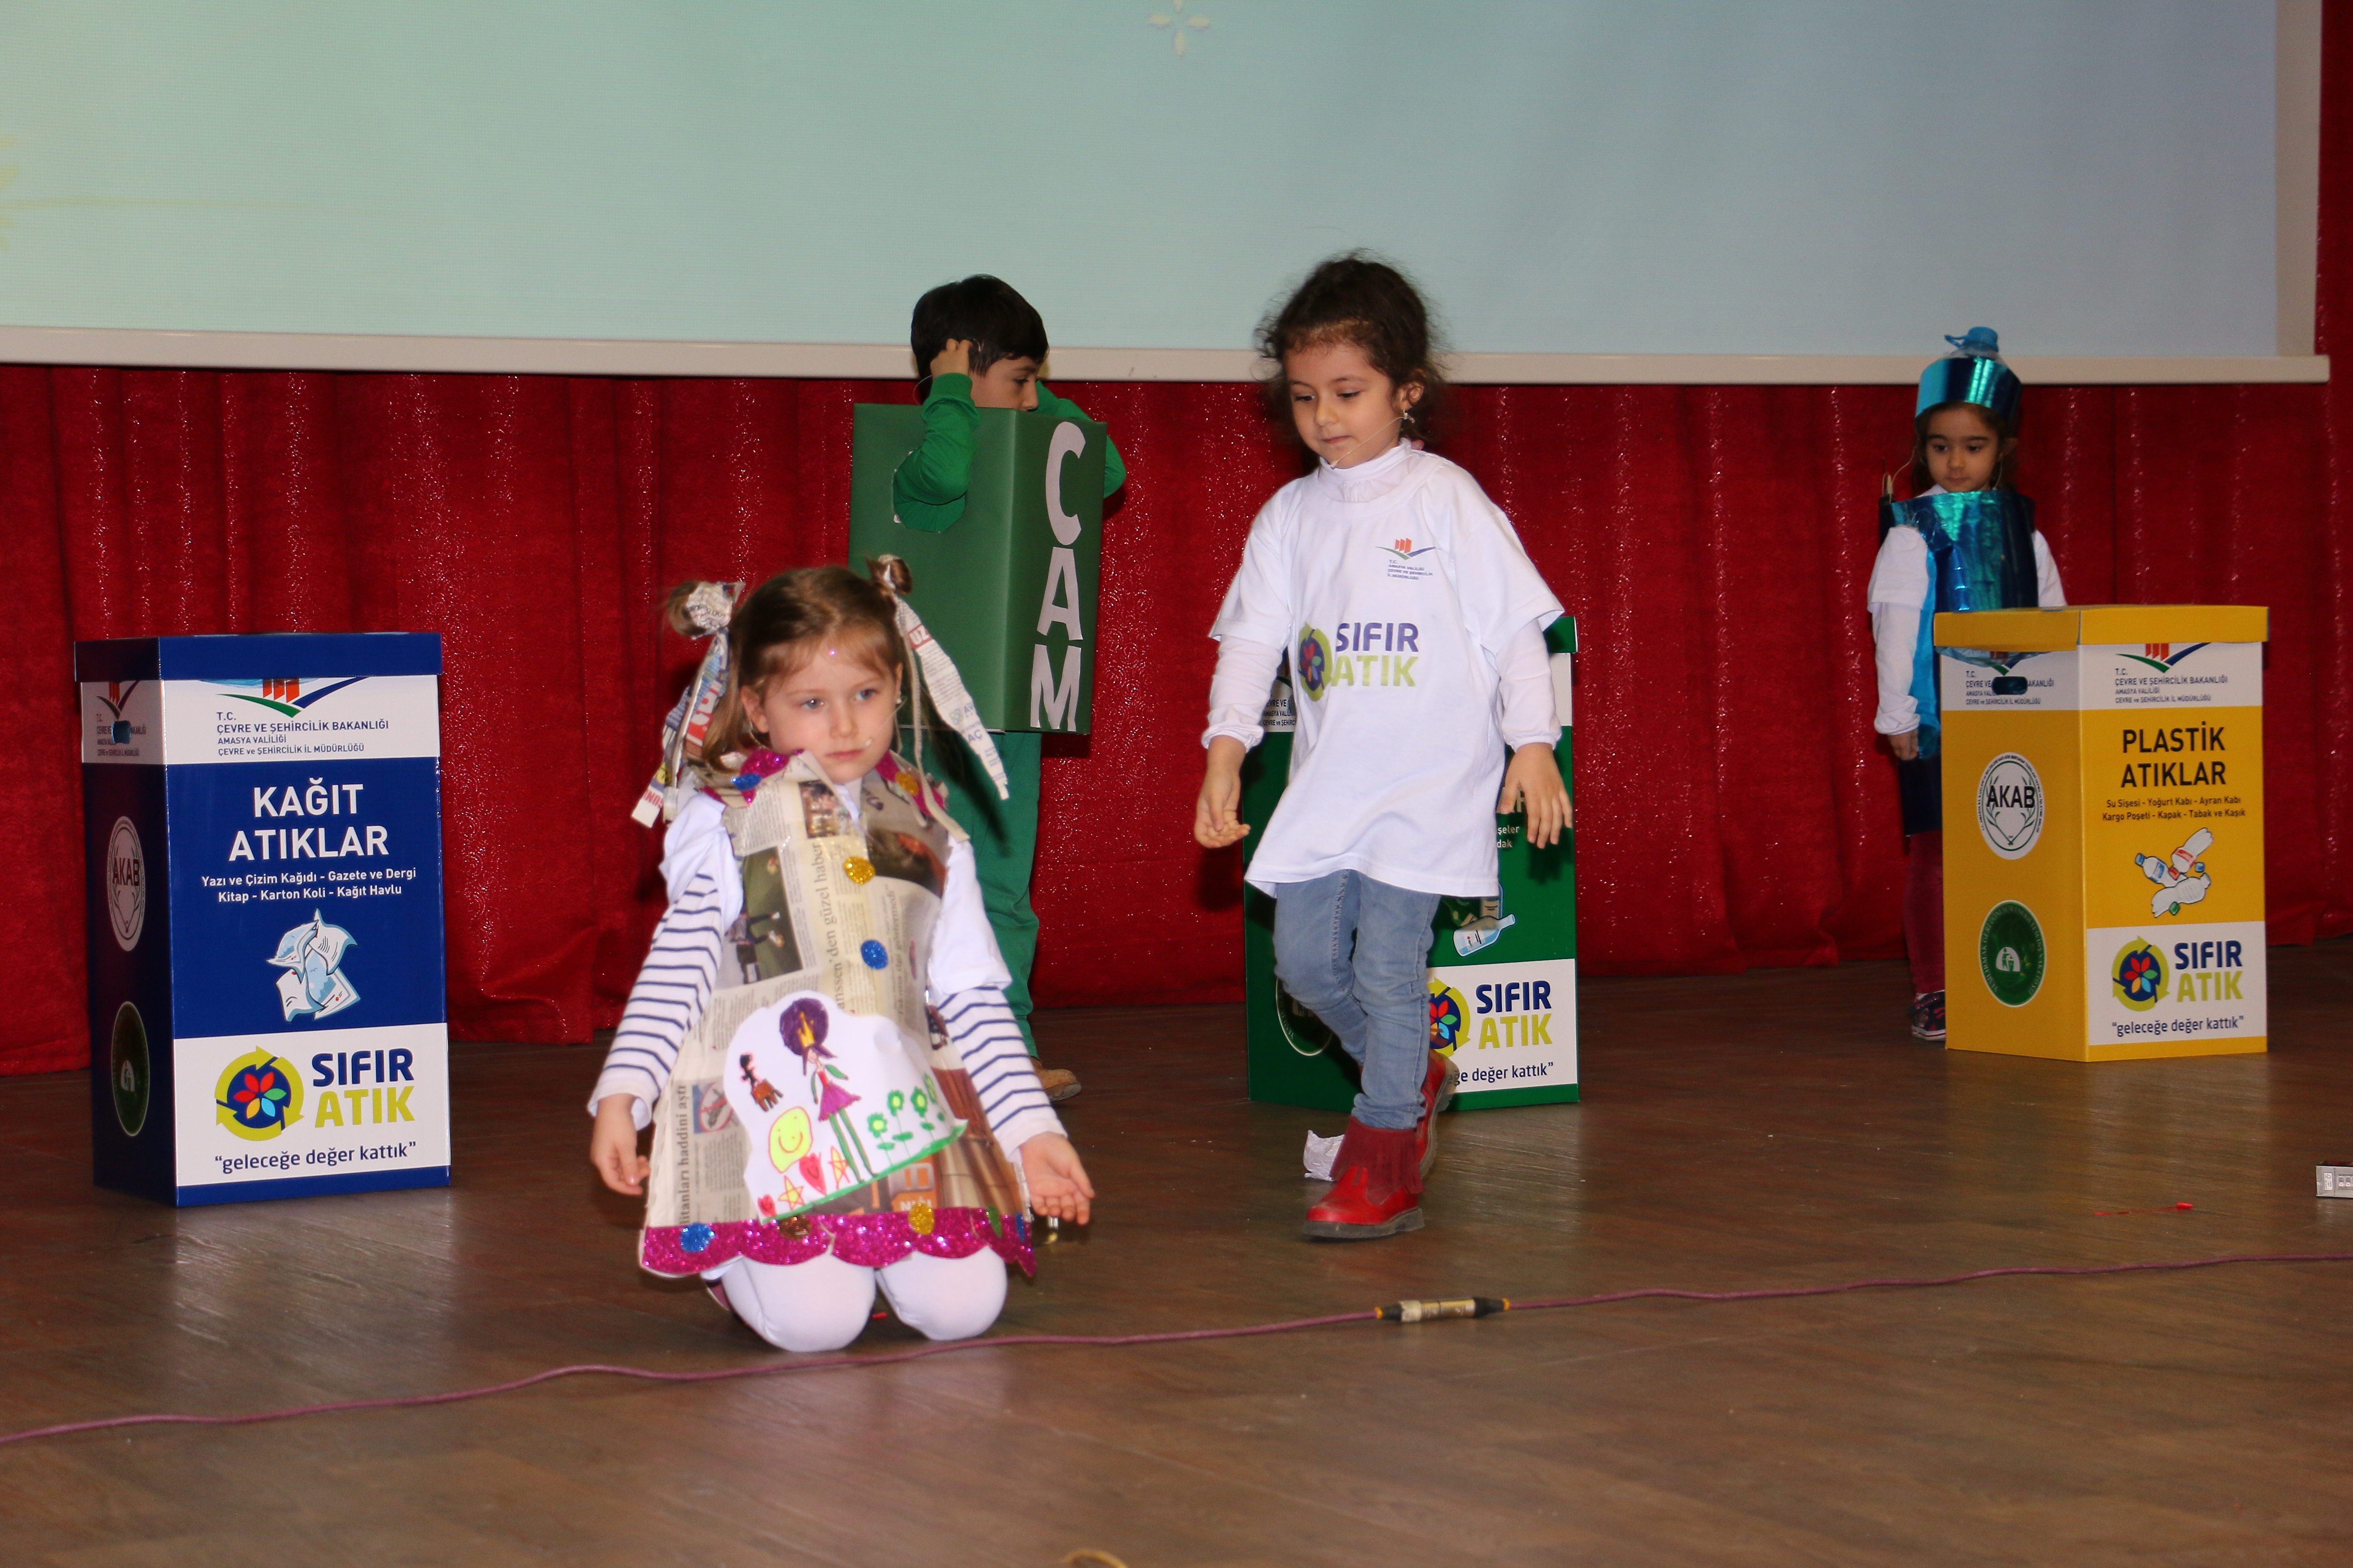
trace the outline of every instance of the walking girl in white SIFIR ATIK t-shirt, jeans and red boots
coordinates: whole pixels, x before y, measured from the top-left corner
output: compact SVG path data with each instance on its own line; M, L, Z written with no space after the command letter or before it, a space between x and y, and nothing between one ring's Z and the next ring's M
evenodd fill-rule
M1431 1117L1454 1091L1428 1044L1438 900L1497 896L1497 811L1525 802L1529 844L1569 820L1544 649L1560 602L1478 482L1417 440L1445 383L1395 268L1325 261L1259 327L1259 350L1315 468L1259 510L1209 630L1193 837L1224 849L1249 832L1242 757L1289 654L1292 776L1249 882L1275 898L1285 990L1362 1067L1306 1234L1393 1237L1421 1227Z

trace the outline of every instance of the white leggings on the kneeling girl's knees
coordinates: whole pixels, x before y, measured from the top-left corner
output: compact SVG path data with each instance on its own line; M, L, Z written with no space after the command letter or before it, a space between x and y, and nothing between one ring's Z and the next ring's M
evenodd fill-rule
M704 1279L776 1349L840 1349L859 1338L873 1316L878 1279L899 1321L927 1340L969 1340L1005 1309L1005 1260L988 1248L969 1258L908 1253L882 1269L833 1253L807 1262L732 1258Z

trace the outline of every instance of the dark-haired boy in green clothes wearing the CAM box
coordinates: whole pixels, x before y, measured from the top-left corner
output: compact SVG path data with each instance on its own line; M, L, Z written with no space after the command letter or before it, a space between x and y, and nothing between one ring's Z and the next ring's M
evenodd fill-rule
M922 397L922 444L892 477L892 508L911 529L941 534L965 515L979 409L1089 418L1075 402L1064 402L1038 381L1047 355L1045 320L998 277L944 282L918 299L908 346L915 350L915 393ZM1104 494L1125 482L1127 463L1120 461L1118 444L1111 444L1104 454ZM941 748L941 762L951 783L962 790L962 809L955 816L972 832L988 926L1014 976L1005 987L1005 1001L1021 1025L1021 1044L1038 1056L1028 1027L1028 971L1038 957L1038 912L1031 910L1028 884L1038 858L1040 736L1014 731L995 736L995 743L1009 799L998 799L962 748ZM1066 1070L1040 1067L1038 1077L1054 1100L1078 1093L1078 1077Z

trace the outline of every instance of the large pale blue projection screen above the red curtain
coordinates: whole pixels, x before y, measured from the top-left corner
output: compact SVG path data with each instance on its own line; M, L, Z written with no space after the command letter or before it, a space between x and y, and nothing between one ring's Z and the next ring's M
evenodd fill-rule
M0 360L1249 374L1367 247L1468 378L2297 381L2318 0L0 0Z

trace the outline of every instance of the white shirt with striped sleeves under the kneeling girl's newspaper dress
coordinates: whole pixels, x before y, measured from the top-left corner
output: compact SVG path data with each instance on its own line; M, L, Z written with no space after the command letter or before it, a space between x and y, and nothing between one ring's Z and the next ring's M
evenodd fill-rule
M856 818L859 792L835 788L835 795ZM711 1004L727 929L744 912L744 879L718 799L696 795L678 813L661 846L661 875L671 907L654 926L654 943L605 1053L605 1072L588 1098L593 1114L607 1095L631 1095L638 1126L652 1119L652 1105L678 1065L678 1046ZM1047 1103L1021 1044L1021 1027L1005 1004L1012 973L988 929L969 844L948 851L948 879L939 900L927 992L965 1060L988 1128L1012 1154L1040 1133L1061 1133L1061 1117Z

